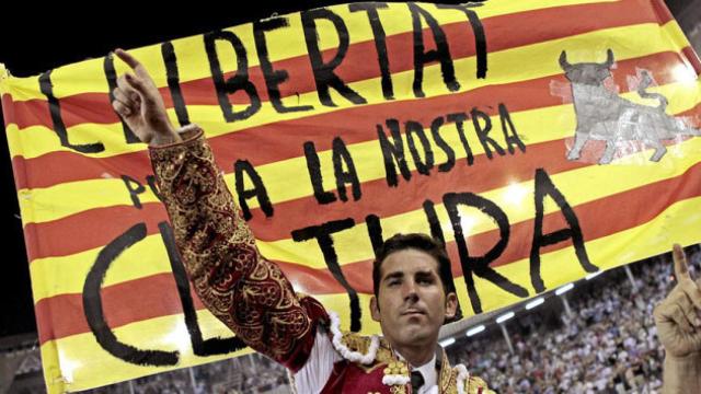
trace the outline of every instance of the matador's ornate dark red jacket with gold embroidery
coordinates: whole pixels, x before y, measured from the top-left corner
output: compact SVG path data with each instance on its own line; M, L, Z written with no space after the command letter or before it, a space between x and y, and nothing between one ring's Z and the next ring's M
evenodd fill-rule
M411 393L409 368L378 336L342 333L337 317L297 294L277 265L261 256L217 167L204 132L149 147L175 242L209 311L256 351L287 367L298 393ZM438 354L433 393L486 393L484 381Z

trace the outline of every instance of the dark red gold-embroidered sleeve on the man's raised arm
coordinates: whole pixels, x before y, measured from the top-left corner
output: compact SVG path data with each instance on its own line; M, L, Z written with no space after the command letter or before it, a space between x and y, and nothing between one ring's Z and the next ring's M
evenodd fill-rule
M186 127L181 136L149 154L189 280L246 345L297 371L326 313L313 298L297 297L280 268L261 256L202 129Z

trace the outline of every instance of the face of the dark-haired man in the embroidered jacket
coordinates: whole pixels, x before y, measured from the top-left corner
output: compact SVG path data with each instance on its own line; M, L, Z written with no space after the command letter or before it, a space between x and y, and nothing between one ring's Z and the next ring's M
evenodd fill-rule
M440 326L455 315L457 303L455 293L447 298L444 293L438 262L409 248L382 262L378 297L371 299L370 311L392 346L435 346Z

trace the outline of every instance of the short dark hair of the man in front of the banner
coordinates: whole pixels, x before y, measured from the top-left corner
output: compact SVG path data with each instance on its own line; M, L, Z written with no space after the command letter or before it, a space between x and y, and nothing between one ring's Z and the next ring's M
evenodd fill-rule
M375 262L372 262L372 290L375 297L378 297L380 290L380 268L382 262L390 254L404 250L417 250L425 252L438 262L438 276L443 283L446 296L456 292L456 286L452 281L452 273L450 271L450 258L446 252L443 242L422 233L394 234L387 239L380 247L375 252Z

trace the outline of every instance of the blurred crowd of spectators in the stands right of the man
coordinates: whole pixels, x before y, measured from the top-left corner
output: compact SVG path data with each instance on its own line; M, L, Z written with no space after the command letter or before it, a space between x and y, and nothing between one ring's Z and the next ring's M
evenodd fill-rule
M693 269L701 253L690 257ZM495 327L458 340L448 354L499 393L659 392L664 349L653 308L674 287L670 258L632 265L635 286L623 269L578 283L563 294L572 315L552 297L508 321L514 354Z

